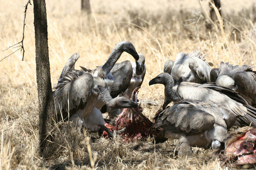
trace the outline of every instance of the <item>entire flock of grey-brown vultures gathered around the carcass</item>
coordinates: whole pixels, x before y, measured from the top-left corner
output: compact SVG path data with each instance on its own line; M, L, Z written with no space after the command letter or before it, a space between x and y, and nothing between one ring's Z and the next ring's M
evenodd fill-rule
M133 56L135 62L116 63L123 52ZM256 126L253 67L221 62L219 68L212 69L212 63L203 57L200 51L181 52L175 61L166 61L163 73L149 82L150 86L164 85L162 111L154 118L154 125L161 129L155 142L178 139L179 155L189 154L192 146L220 149L233 125ZM108 112L114 119L123 108L139 107L137 101L131 100L131 94L143 82L145 57L137 53L131 42L122 41L96 69L75 70L77 59L78 53L68 59L53 88L54 118L73 121L86 129L102 129L113 137L102 113ZM167 107L171 102L173 105Z

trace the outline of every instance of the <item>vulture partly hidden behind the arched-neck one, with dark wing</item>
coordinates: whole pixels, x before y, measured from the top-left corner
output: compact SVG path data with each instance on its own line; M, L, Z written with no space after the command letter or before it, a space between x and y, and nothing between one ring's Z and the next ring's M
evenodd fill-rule
M123 61L121 63L115 63L113 69L110 71L114 79L110 90L110 95L112 97L125 93L129 98L131 98L133 90L141 86L146 74L146 65L143 54L138 55L139 59L137 61ZM107 111L110 119L113 119L116 115L122 112L121 109L113 108L107 108ZM106 108L102 108L101 112L106 112Z

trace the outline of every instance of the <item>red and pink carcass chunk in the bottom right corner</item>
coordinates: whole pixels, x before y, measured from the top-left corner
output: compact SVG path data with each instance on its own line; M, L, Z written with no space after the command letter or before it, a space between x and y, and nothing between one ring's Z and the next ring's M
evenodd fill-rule
M238 129L225 139L225 149L220 151L222 165L251 168L256 165L256 128Z

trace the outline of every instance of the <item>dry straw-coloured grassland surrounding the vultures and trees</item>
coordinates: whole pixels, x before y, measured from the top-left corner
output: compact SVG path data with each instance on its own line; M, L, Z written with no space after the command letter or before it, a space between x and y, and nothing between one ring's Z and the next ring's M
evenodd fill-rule
M5 50L22 39L23 6L27 1L0 1L0 59L14 52ZM146 56L147 73L138 99L152 99L158 107L143 107L152 120L163 103L163 86L148 86L162 72L167 59L201 50L207 61L256 65L254 1L222 1L224 30L205 28L203 1L91 1L90 17L80 11L80 1L46 1L49 59L52 86L57 83L67 59L80 53L76 69L102 65L115 44L131 41ZM53 128L56 141L48 158L38 154L38 99L35 71L33 7L28 6L24 48L0 62L0 169L224 169L212 159L211 150L193 148L185 158L174 156L177 141L152 144L123 143L122 139L90 139L70 123ZM235 29L236 27L236 29ZM3 51L5 50L5 51ZM123 53L119 61L133 58Z

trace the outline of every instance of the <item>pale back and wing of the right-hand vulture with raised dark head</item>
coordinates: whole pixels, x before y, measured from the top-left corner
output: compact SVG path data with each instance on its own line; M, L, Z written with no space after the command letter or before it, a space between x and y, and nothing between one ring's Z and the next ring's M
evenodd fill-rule
M217 86L215 84L201 84L199 86L184 86L181 83L177 87L177 93L181 99L195 99L201 101L212 101L220 104L237 116L238 125L256 126L256 111L250 105L247 105L237 92L229 88ZM250 109L247 109L247 108Z

